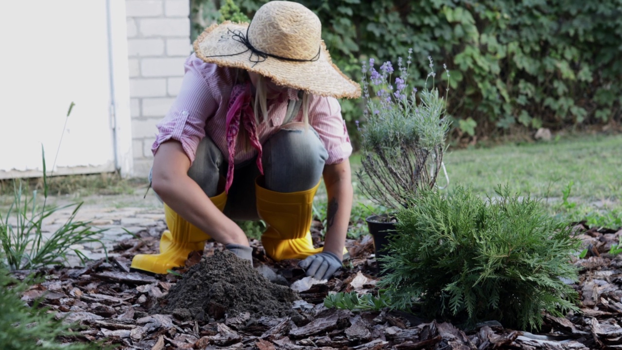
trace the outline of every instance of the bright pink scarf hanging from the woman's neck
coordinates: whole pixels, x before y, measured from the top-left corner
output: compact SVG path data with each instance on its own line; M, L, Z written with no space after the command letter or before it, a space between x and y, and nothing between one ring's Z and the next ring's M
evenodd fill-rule
M257 126L255 125L255 115L253 113L253 107L251 106L251 83L238 84L231 90L231 97L229 99L229 109L227 111L227 147L229 149L229 168L227 169L227 182L225 185L225 192L229 193L229 187L233 183L233 171L234 171L234 158L235 158L235 145L238 140L238 131L240 121L246 129L248 138L253 145L253 148L257 149L257 168L259 173L264 174L264 168L261 164L261 143L257 136Z

